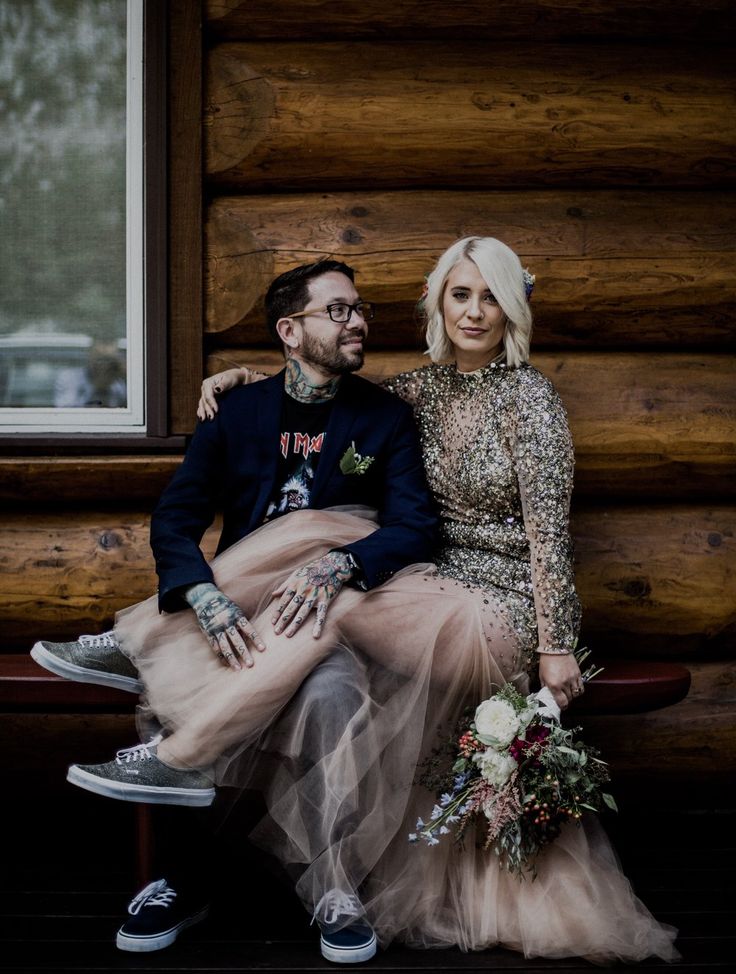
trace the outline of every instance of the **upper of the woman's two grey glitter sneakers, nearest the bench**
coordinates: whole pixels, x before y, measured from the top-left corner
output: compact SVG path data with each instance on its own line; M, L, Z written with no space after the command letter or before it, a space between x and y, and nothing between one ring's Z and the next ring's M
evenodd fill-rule
M103 632L101 636L80 636L73 643L41 640L31 650L31 656L39 666L67 680L98 683L130 693L143 692L138 671L111 632Z

